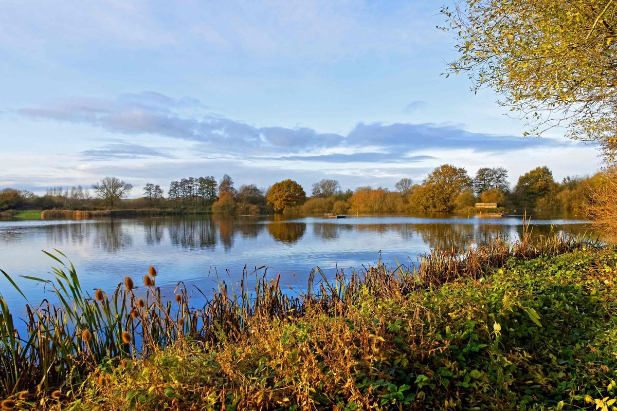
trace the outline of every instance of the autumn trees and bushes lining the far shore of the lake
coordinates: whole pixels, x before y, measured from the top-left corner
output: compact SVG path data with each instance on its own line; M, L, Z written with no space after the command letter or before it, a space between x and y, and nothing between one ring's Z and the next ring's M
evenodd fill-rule
M116 177L105 177L89 188L54 187L40 196L25 190L4 189L0 191L0 213L7 216L15 213L12 210L54 210L45 213L47 218L63 215L71 218L75 214L63 214L62 210L84 211L85 217L94 214L111 215L109 210L115 210L113 214L118 216L179 213L246 215L273 212L522 213L534 210L583 213L594 203L594 193L608 181L608 174L608 171L603 171L594 176L570 176L558 182L553 179L552 171L547 166L540 166L520 176L514 187L511 187L508 171L504 168L481 168L471 177L464 168L441 165L419 183L408 178L401 179L395 184L394 190L368 186L342 190L336 180L324 179L312 185L310 196L307 196L300 184L291 179L276 182L267 189L255 184L244 184L236 189L233 179L225 174L220 181L213 176L172 181L167 195L159 185L148 183L143 188L143 197L131 199L126 197L133 190L133 185ZM476 203L492 203L497 208L476 208ZM92 213L97 210L104 211Z

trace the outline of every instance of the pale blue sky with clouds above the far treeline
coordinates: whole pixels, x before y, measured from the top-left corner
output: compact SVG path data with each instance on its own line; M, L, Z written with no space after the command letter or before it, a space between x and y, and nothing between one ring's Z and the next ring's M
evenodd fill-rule
M167 188L230 174L305 189L416 182L442 163L600 166L594 147L521 138L489 90L440 76L444 1L0 3L0 189L118 176Z

